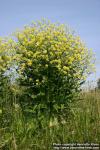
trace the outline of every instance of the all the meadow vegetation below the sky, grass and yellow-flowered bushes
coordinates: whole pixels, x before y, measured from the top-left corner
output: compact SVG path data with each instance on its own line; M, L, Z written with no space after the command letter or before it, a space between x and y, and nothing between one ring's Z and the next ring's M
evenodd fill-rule
M82 89L94 61L79 36L45 20L0 39L0 150L99 143L100 89Z

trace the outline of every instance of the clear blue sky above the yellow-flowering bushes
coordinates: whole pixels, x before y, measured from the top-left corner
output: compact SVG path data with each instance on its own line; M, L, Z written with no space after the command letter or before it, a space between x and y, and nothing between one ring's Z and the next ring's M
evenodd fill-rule
M96 74L100 77L100 0L0 0L0 36L41 18L68 24L96 53Z

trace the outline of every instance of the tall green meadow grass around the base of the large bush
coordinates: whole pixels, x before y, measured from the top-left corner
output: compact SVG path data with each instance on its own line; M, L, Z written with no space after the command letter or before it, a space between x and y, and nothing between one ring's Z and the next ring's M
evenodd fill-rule
M40 128L34 117L25 116L19 90L4 86L0 95L0 150L52 150L53 143L100 142L100 90L83 91L62 123L46 123Z

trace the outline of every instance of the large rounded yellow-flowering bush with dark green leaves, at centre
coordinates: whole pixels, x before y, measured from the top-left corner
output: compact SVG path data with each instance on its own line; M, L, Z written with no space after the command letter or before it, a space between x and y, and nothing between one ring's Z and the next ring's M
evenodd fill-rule
M92 72L93 55L64 25L42 21L16 33L19 83L24 110L42 120L68 117L81 84ZM26 98L25 98L26 97Z

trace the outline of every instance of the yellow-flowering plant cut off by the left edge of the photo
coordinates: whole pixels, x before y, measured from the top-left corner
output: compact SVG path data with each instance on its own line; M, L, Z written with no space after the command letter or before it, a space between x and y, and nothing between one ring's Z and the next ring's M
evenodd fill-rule
M9 38L0 38L0 127L5 128L8 124L11 125L11 68L14 66L13 55L15 43ZM8 113L9 112L9 113ZM6 126L7 125L7 126ZM0 134L1 136L1 134ZM1 142L1 139L0 139Z

